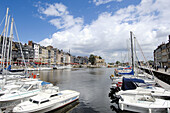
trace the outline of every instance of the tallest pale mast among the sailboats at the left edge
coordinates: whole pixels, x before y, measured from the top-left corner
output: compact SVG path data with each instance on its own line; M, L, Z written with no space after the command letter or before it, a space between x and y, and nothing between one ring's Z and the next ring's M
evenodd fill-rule
M5 40L5 32L6 32L6 26L7 26L7 19L8 19L8 11L9 11L9 8L7 8L7 11L6 11L6 19L5 19L5 28L4 28L4 35L3 35L3 44L2 44L2 52L1 52L1 66L4 64L4 40ZM2 63L3 62L3 63ZM4 69L4 67L3 67Z

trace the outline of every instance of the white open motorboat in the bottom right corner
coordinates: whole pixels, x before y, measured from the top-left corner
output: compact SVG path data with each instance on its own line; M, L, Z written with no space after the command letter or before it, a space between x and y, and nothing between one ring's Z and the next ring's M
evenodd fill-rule
M169 113L170 101L149 95L121 95L119 108L140 113Z

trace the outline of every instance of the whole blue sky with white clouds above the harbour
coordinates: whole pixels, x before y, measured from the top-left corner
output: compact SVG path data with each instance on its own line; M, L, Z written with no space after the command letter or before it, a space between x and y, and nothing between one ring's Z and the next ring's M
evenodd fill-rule
M70 50L74 56L101 56L106 62L126 61L130 31L139 60L170 35L170 0L0 0L0 31L6 8L20 41ZM14 40L16 40L14 33Z

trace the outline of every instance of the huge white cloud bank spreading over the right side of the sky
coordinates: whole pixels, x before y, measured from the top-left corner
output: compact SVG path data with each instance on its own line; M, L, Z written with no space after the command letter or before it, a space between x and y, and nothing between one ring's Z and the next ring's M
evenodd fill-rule
M153 50L166 42L170 34L168 4L170 1L167 0L142 0L137 6L128 6L114 14L104 12L86 26L83 26L82 18L66 15L50 23L67 29L54 33L51 39L44 39L40 44L51 44L65 51L70 49L73 55L93 53L112 62L121 60L120 53L127 56L127 40L133 31L146 57L151 58Z

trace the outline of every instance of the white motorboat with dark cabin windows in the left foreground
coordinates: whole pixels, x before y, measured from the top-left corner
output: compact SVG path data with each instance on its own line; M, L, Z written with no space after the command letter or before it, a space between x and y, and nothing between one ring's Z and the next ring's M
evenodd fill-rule
M48 112L63 107L79 99L80 93L73 90L59 91L57 86L42 90L13 108L14 113Z

